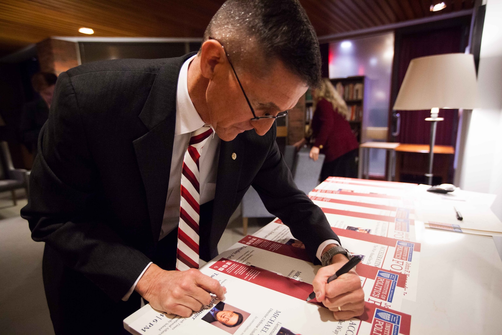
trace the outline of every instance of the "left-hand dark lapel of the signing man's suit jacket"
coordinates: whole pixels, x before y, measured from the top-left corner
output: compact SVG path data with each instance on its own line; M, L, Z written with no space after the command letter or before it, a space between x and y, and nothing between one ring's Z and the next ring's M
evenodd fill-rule
M139 115L149 132L133 141L145 186L154 243L162 227L176 125L176 91L183 62L193 56L169 59L161 67Z

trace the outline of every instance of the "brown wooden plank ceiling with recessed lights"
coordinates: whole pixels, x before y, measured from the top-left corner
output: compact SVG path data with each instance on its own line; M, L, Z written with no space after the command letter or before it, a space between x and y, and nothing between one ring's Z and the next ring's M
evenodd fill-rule
M224 0L0 0L0 56L50 36L201 37ZM473 7L474 0L300 0L318 36Z

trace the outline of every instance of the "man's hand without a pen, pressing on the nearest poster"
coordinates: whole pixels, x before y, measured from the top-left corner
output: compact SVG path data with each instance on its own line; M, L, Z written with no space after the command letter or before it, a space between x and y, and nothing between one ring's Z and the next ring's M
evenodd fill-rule
M208 305L214 293L221 300L226 288L199 270L166 271L155 264L145 271L135 290L160 311L188 317Z

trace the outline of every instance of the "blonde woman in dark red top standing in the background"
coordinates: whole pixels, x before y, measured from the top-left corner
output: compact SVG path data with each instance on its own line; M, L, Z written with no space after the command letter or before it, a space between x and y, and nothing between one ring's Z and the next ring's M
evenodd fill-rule
M347 121L348 108L328 78L313 90L314 116L312 137L315 139L310 158L326 155L321 181L329 176L357 178L359 143Z

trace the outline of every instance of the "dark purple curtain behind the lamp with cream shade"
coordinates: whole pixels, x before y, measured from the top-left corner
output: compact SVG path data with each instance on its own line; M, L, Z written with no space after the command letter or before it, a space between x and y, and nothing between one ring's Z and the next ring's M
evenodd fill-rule
M464 38L462 26L403 35L399 46L398 90L413 58L439 55L453 52L463 52L461 45ZM429 144L430 122L424 119L430 117L430 110L400 110L401 129L396 142L412 144ZM455 146L458 124L457 109L440 109L436 132L437 145Z

